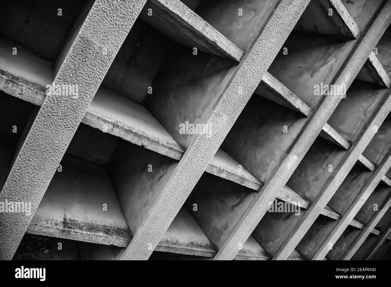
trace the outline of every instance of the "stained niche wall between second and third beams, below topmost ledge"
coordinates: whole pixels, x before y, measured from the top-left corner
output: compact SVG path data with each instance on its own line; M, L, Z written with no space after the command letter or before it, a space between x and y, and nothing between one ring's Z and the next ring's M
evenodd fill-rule
M325 97L314 94L314 86L332 84L354 44L354 40L293 31L268 71L314 109Z

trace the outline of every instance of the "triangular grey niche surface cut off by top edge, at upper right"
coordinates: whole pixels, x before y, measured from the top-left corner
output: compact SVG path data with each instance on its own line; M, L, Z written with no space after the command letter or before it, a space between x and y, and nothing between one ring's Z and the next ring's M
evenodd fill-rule
M373 17L378 14L386 1L384 0L341 0L348 10L350 16L356 22L357 26L363 31L368 24L371 24Z

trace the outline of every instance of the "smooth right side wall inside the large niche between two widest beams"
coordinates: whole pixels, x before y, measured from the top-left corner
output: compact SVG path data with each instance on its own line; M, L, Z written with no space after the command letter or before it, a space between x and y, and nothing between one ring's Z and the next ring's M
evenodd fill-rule
M176 45L156 75L153 92L147 94L145 106L172 137L187 148L199 131L205 130L236 68L235 62L204 52L194 55L191 48ZM192 132L186 128L190 124L203 125L203 128ZM181 129L182 125L185 130Z

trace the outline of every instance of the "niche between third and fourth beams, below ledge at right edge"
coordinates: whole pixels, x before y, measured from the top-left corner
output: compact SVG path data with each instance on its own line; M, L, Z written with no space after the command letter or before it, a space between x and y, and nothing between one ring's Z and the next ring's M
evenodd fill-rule
M327 121L344 139L353 143L384 100L387 89L354 80Z

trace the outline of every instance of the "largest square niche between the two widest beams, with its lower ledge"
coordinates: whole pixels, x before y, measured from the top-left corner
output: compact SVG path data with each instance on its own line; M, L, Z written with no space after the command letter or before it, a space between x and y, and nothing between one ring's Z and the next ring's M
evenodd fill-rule
M237 62L206 48L195 52L180 45L188 39L185 33L178 38L173 29L160 26L161 21L185 20L167 17L163 8L153 9L152 16L142 10L90 105L93 111L86 123L100 129L109 123L109 133L180 159L204 131ZM98 123L91 123L95 119Z

